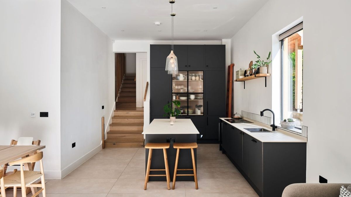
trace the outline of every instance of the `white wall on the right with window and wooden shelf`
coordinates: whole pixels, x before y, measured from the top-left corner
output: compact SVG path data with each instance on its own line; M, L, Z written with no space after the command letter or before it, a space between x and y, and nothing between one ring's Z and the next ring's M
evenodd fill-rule
M247 81L245 90L243 82L234 82L234 110L258 114L265 108L277 109L280 97L277 34L303 19L304 125L308 127L306 181L318 182L321 175L330 183L351 182L351 157L347 154L351 150L351 132L347 129L351 94L345 72L349 70L345 57L351 52L349 35L345 33L351 31L347 24L351 1L297 0L294 5L288 0L268 1L231 39L235 70L247 69L255 59L253 50L261 56L273 51L273 64L269 67L272 76L267 77L266 88L264 79Z

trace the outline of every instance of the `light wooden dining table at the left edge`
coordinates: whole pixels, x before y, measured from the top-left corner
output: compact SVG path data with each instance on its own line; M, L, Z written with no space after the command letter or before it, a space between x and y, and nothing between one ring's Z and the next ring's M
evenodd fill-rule
M28 146L20 146L20 145L0 145L0 166L7 165L9 162L12 162L16 159L28 157L29 155L33 155L37 150L44 149L45 146L37 146L37 145L28 145ZM25 163L24 170L33 171L34 168L32 163ZM1 187L1 192L4 192L5 188ZM37 188L31 188L32 193L37 193Z

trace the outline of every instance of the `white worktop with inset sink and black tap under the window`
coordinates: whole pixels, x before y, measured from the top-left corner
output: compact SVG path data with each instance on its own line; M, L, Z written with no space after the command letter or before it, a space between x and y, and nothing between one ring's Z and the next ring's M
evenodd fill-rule
M243 131L247 135L256 138L261 142L307 142L306 137L302 137L288 131L284 131L282 129L276 129L276 131L272 131L272 127L267 124L263 124L249 118L244 118L253 123L230 123L226 119L230 118L220 118L224 122L232 125L233 127ZM244 128L265 128L272 132L250 132Z

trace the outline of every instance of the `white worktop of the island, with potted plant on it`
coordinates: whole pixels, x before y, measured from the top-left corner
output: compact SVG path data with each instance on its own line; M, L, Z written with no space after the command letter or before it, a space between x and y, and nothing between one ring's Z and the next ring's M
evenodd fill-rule
M154 119L143 134L199 134L199 131L190 119L176 119L173 125L170 119Z

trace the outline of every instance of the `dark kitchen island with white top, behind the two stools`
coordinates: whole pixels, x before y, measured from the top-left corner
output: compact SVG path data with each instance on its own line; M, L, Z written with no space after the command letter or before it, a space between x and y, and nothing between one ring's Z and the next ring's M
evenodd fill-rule
M173 148L173 142L190 143L197 141L199 131L190 119L177 119L174 125L170 124L170 119L154 119L148 125L143 134L145 134L145 144L147 143L165 143L170 142L170 148L167 149L168 166L170 178L173 180L174 165L176 162L177 149ZM149 149L145 150L145 172L147 166L147 157ZM196 149L194 149L195 164ZM178 169L192 169L192 160L190 149L180 149ZM151 169L165 169L165 162L162 149L152 150ZM165 174L164 171L151 171L150 174ZM179 171L178 174L189 174L189 171ZM166 181L166 177L149 177L149 181ZM178 176L176 181L194 181L193 176Z

